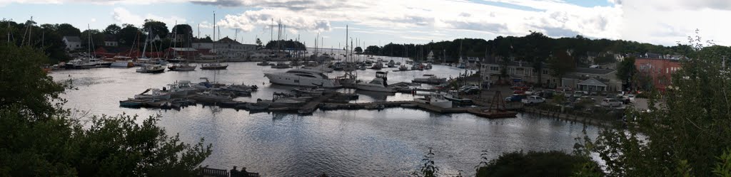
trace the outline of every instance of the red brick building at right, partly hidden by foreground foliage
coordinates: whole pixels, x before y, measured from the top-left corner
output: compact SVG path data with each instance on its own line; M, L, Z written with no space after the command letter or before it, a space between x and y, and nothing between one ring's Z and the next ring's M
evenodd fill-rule
M639 74L649 76L652 79L651 84L654 88L665 90L665 87L672 84L671 74L681 69L681 63L675 59L635 58L635 67L637 67Z

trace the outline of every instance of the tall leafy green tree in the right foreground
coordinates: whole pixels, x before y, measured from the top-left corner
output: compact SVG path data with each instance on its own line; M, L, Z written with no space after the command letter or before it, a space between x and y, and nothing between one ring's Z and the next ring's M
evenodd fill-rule
M718 158L731 147L731 72L703 42L689 37L695 54L649 99L649 111L628 110L628 126L602 130L589 143L610 176L713 176L731 165Z

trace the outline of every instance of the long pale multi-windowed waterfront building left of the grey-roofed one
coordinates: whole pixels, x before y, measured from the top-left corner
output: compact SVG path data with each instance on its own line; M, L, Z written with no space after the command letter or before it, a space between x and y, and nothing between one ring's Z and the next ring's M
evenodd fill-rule
M542 69L542 74L538 74L533 68L532 63L508 60L507 58L501 57L488 57L482 60L480 64L480 74L482 75L483 82L495 83L499 79L509 80L511 82L526 82L526 83L538 83L539 80L545 81L543 84L555 85L556 78L550 76L549 68L545 66ZM502 78L502 73L507 74L505 78ZM539 77L539 75L541 75Z

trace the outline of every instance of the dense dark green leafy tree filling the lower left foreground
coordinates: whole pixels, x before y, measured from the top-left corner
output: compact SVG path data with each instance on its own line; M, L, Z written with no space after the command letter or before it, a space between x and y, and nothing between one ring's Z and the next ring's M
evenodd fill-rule
M0 176L194 176L211 154L202 140L167 135L154 117L83 125L62 108L66 84L38 68L46 60L33 47L0 45Z

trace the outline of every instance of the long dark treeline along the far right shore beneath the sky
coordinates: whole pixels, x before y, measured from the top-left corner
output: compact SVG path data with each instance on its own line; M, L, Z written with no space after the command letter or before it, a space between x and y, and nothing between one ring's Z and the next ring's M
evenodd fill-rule
M686 55L693 52L692 47L688 45L665 47L625 40L588 39L583 36L554 39L541 33L531 32L526 36L498 36L491 40L454 39L428 44L390 43L382 47L368 46L365 53L421 59L426 58L426 55L431 51L434 58L443 61L446 57L447 62L456 62L460 55L480 58L493 55L535 61L542 60L536 58L548 58L548 55L558 50L569 51L573 57L578 59L601 53L644 54L651 52L662 55Z

